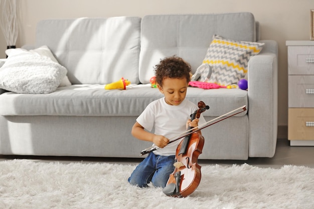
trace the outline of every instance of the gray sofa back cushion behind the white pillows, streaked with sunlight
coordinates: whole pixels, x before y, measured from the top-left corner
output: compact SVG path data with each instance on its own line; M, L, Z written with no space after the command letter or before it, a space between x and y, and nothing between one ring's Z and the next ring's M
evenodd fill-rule
M44 20L36 45L46 45L68 69L72 84L107 84L121 77L138 83L140 18ZM49 38L47 38L49 37Z

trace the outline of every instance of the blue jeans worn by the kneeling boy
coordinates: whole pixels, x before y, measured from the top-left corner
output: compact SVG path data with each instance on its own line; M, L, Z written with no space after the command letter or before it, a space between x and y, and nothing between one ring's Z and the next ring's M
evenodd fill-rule
M128 182L139 187L147 186L150 181L154 186L165 187L169 175L174 172L175 155L163 156L150 152L148 156L137 165L128 178Z

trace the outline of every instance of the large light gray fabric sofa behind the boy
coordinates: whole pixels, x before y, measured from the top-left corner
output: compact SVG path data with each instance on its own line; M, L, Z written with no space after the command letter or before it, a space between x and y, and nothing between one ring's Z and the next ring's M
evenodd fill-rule
M277 43L259 40L251 13L39 22L34 48L47 45L66 67L72 85L50 94L2 91L0 154L140 157L151 144L133 138L131 127L147 104L163 96L149 86L153 66L177 55L195 72L214 34L265 46L249 61L248 91L189 87L187 99L210 106L203 113L206 121L247 105L247 111L202 130L205 145L199 158L272 157ZM121 77L131 82L126 90L104 90L104 84Z

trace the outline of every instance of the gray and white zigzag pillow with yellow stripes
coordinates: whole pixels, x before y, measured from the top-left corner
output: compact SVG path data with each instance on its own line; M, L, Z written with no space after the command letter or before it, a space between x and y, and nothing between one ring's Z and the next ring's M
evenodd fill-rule
M264 43L233 41L214 35L203 64L211 66L207 82L237 88L238 81L247 78L250 57L257 55Z

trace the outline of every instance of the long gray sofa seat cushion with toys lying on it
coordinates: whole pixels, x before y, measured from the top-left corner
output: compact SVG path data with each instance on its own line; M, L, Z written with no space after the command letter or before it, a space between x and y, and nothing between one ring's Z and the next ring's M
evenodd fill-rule
M0 115L138 116L152 101L163 97L150 85L130 85L126 90L105 90L104 85L59 87L50 94L0 95ZM210 106L204 116L220 116L247 105L247 91L189 87L187 99ZM244 115L246 112L239 115Z

